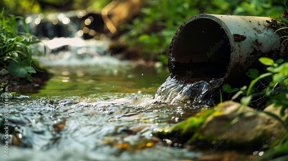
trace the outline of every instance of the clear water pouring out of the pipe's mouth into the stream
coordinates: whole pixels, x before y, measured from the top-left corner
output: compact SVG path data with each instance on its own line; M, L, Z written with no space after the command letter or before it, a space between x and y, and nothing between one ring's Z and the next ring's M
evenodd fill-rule
M220 78L216 80L212 79L209 83L206 81L185 83L170 75L156 90L154 99L170 104L178 101L210 104L212 92L219 87L221 82L223 82L223 79Z

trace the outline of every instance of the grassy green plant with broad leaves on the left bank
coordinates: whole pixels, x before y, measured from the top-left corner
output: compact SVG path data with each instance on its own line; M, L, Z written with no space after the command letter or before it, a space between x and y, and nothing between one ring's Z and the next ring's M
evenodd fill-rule
M18 32L17 20L20 20L26 32ZM0 64L7 68L10 74L26 78L36 73L30 45L40 43L29 33L23 17L0 14ZM44 53L45 54L45 53Z

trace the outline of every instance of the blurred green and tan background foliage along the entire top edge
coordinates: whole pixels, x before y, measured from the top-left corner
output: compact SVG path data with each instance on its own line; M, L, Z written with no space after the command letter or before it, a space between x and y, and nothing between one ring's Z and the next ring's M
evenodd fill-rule
M284 8L277 0L0 0L0 8L25 16L27 13L65 12L84 9L101 13L107 37L120 47L124 59L162 61L166 64L171 39L176 29L197 14L277 16ZM109 15L109 18L106 15ZM193 38L191 38L193 39ZM122 42L121 45L119 42ZM112 54L114 54L112 52ZM118 54L119 55L119 54Z

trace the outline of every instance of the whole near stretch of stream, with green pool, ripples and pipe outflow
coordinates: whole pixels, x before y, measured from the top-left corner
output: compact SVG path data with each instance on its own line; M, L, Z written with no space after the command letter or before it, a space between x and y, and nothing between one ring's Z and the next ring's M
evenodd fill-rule
M0 160L241 160L241 152L211 154L152 135L209 108L221 80L183 83L167 69L111 57L46 66L54 76L45 85L31 82L0 103Z

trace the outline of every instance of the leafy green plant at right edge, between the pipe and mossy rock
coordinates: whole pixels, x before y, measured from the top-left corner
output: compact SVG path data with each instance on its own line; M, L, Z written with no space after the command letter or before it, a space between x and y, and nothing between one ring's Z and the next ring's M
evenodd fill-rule
M257 69L249 69L246 73L249 77L254 78L248 88L245 86L240 89L239 92L236 93L232 97L232 99L236 99L239 95L246 95L241 98L241 102L245 104L249 104L251 99L257 95L264 94L269 97L269 101L267 105L275 103L278 106L283 106L283 108L288 107L287 103L287 95L288 94L288 62L284 59L278 59L274 62L271 58L268 57L260 57L259 62L264 65L267 65L267 73L258 74L259 71ZM282 64L278 64L277 62L281 62ZM284 63L283 63L284 62ZM260 93L254 93L254 85L261 79L270 77L269 84L265 87L263 91ZM228 87L228 88L227 88ZM223 87L224 88L224 87ZM231 90L231 87L226 85L226 92ZM288 124L287 124L288 125Z

